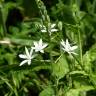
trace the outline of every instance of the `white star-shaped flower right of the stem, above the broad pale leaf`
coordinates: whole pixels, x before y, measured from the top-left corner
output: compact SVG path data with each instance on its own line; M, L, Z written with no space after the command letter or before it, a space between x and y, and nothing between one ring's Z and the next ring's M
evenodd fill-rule
M68 54L77 55L77 53L75 53L74 50L77 49L78 46L71 46L70 43L68 42L68 39L66 39L66 42L62 40L61 45L62 45L62 49Z

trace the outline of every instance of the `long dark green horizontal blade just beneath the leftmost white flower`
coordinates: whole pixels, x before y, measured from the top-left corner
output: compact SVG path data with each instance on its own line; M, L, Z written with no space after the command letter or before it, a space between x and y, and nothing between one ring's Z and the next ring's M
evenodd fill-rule
M50 70L50 66L49 65L40 65L40 66L37 66L38 64L36 65L24 65L24 66L19 66L19 64L12 64L12 65L3 65L3 66L0 66L0 71L3 71L3 72L9 72L9 71L24 71L24 70L29 70L29 71L40 71L41 69L48 69Z

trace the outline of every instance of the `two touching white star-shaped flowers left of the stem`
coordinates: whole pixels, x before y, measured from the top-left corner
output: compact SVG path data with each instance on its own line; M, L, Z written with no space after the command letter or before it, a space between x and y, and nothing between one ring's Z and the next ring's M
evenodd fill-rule
M36 54L33 54L33 51L35 50L35 52L44 53L43 49L47 47L47 45L48 44L43 43L42 39L40 39L39 41L34 42L34 47L31 47L30 51L28 51L27 47L25 47L25 54L19 55L20 58L25 59L20 63L20 66L24 65L25 63L30 65L31 60L36 57Z

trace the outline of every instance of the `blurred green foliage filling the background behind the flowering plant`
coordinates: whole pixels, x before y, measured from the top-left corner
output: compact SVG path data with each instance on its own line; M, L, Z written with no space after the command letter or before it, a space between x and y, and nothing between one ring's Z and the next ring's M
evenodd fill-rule
M56 22L57 25L62 22L64 39L68 38L70 42L78 44L79 25L84 68L91 74L96 85L96 0L42 1L51 22ZM66 88L70 83L66 75L69 72L67 56L61 57L56 63L61 71L53 65L52 77L49 62L40 61L48 58L50 50L46 50L47 54L44 56L41 54L37 61L32 61L31 66L19 67L21 60L18 54L24 51L24 46L31 47L33 41L41 37L48 42L46 34L41 36L40 23L41 14L35 0L0 0L0 42L9 42L0 43L0 96L54 96L54 75L60 79L61 84L65 82L60 87L58 96L95 96L96 87L94 89L90 85L88 77L82 72L70 73L74 89ZM59 37L58 34L56 36ZM56 47L58 42L58 39L53 40L54 59L60 55ZM61 90L65 90L66 95L60 95Z

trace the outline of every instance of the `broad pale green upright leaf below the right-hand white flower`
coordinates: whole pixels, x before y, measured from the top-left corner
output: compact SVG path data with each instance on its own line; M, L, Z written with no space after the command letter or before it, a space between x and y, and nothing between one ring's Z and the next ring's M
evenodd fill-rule
M61 79L69 72L69 67L64 55L61 55L57 60L53 64L53 75Z

